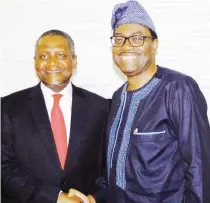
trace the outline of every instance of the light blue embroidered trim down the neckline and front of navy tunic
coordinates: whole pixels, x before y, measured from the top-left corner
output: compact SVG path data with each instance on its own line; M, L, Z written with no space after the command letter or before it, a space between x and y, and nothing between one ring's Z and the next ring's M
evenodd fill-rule
M126 178L125 178L125 160L126 160L126 153L127 148L130 141L130 132L133 123L133 119L136 115L136 111L138 109L139 103L142 99L144 99L152 89L159 83L160 79L153 78L150 83L148 83L144 88L140 89L139 91L135 92L132 100L131 105L128 113L128 119L124 128L123 132L123 140L120 147L120 151L118 154L117 160L117 177L116 177L116 184L125 189L126 187ZM123 91L121 94L121 104L118 109L117 115L114 119L110 130L110 137L109 137L109 145L108 145L108 156L107 156L107 166L108 166L108 176L110 175L110 169L112 168L112 159L113 153L115 150L115 144L118 136L118 130L120 128L120 124L122 121L122 115L125 108L125 101L126 101L126 89L127 83L123 87Z

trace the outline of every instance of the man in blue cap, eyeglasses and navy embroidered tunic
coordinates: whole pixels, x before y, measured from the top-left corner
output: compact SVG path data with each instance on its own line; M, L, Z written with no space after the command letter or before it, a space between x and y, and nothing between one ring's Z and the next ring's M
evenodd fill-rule
M108 203L210 203L210 126L197 83L156 65L157 32L137 1L117 4L111 25L128 81L108 121Z

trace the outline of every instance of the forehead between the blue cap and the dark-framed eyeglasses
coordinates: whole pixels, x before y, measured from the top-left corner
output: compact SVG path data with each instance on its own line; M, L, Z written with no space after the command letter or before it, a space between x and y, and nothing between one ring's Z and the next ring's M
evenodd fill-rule
M148 28L140 24L124 24L117 27L114 33L115 35L122 34L125 36L133 34L149 35L150 31Z

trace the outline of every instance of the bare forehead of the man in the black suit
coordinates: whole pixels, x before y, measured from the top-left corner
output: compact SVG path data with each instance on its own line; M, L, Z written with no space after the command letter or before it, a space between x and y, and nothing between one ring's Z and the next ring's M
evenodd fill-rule
M69 49L67 39L62 36L44 36L37 43L37 49L62 48Z

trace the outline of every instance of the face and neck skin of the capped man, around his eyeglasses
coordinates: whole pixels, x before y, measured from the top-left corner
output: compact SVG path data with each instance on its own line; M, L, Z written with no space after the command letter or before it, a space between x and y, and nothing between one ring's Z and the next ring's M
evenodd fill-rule
M116 28L115 36L132 35L151 36L149 29L140 24L124 24ZM132 47L128 40L122 47L113 47L112 55L115 64L127 76L128 91L144 86L157 71L155 54L158 40L146 38L144 45Z

